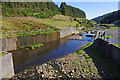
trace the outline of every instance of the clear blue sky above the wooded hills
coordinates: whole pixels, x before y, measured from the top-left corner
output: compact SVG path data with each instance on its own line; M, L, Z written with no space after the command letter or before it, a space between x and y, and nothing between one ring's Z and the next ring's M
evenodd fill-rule
M61 2L54 3L58 6L61 4ZM118 10L118 2L66 2L66 4L83 10L87 19Z

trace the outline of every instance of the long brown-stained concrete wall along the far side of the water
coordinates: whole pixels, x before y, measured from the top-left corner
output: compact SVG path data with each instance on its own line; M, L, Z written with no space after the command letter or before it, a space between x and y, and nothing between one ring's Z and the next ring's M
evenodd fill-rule
M38 43L46 43L60 39L60 32L51 32L49 34L37 34L22 37L5 37L0 38L2 45L0 51L16 50L21 46L35 45Z

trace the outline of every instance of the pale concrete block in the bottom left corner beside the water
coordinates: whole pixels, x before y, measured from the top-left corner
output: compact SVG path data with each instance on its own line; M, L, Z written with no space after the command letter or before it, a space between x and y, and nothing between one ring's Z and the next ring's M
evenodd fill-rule
M1 78L11 78L12 76L14 76L14 66L13 66L12 54L8 53L7 55L0 57L0 61L2 62L2 64L0 65Z

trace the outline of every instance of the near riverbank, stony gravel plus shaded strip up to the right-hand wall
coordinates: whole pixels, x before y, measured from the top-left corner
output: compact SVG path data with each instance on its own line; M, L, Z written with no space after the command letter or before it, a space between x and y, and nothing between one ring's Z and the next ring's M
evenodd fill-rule
M119 70L119 66L116 63L112 64L113 61L107 59L95 48L93 43L90 43L75 53L50 60L42 65L33 66L15 74L11 79L118 79L119 74L117 70Z

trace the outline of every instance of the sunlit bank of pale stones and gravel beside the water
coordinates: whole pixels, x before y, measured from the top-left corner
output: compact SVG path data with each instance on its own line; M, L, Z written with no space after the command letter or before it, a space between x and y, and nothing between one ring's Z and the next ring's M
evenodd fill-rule
M26 69L11 79L36 78L101 79L94 63L92 61L87 62L84 54L78 55L76 53Z

